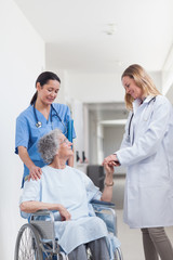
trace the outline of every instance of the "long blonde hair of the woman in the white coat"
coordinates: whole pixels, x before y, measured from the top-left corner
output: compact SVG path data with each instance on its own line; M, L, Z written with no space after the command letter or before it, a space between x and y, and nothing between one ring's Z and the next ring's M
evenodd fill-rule
M146 98L147 95L156 96L161 94L159 90L156 88L152 79L149 77L149 75L146 73L146 70L139 66L138 64L133 64L129 66L122 74L121 80L123 77L130 77L134 79L135 84L142 89L143 95ZM129 110L132 110L132 103L134 99L125 93L124 96L125 105Z

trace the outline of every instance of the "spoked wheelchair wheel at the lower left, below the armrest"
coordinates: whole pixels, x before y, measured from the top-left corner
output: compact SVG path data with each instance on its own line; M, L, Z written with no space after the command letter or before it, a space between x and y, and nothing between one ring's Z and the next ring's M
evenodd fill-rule
M39 233L31 224L24 224L18 231L14 260L43 260Z

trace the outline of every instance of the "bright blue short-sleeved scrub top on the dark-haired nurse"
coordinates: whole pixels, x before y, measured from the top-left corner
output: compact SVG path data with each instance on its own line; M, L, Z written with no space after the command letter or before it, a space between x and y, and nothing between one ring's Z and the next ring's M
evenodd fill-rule
M68 122L71 120L70 110L67 105L64 104L53 104L54 109L57 112L59 118L56 115L56 112L51 108L49 120L36 109L38 120L41 121L42 126L40 128L36 127L37 119L34 113L34 106L29 105L16 119L16 132L15 132L15 153L18 154L18 146L24 146L27 148L30 159L38 167L45 166L45 162L42 160L38 152L38 141L45 133L52 131L55 128L62 130L62 132L68 138ZM51 121L52 115L52 121ZM72 126L71 129L72 139L76 138L76 132ZM24 179L29 174L29 169L24 165Z

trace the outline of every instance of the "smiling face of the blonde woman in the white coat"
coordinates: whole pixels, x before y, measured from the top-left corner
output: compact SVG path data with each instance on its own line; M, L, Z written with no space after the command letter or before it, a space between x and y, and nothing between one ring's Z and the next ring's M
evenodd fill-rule
M122 78L122 84L125 89L127 94L130 94L134 100L136 99L143 100L143 91L139 87L136 86L133 78L124 76Z

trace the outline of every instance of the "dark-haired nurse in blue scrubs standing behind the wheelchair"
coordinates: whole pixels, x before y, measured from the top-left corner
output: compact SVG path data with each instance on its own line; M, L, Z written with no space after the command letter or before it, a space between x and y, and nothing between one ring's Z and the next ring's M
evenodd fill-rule
M71 127L70 110L67 105L53 103L61 88L56 74L44 72L36 81L36 93L30 105L16 119L15 153L24 162L23 183L26 179L37 180L41 176L43 162L38 153L38 141L45 133L58 128L68 136ZM76 138L74 125L71 138ZM68 161L74 165L74 158Z

